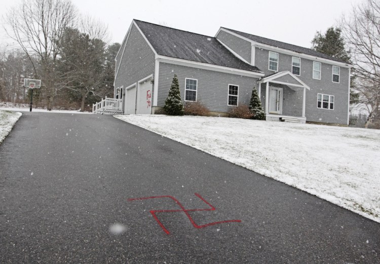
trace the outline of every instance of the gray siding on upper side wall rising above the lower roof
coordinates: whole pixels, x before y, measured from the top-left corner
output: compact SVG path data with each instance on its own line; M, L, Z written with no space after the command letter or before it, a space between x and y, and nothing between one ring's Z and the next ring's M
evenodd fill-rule
M220 30L216 35L216 38L220 40L224 45L235 51L239 56L251 63L251 43Z

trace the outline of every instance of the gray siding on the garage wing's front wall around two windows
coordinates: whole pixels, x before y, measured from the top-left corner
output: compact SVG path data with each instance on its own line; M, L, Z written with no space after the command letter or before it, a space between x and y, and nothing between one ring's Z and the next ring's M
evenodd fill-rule
M215 112L228 112L234 107L227 105L229 84L239 86L239 105L249 104L252 88L257 87L256 78L160 62L158 106L164 106L174 74L178 77L182 101L185 98L185 78L197 79L197 101Z

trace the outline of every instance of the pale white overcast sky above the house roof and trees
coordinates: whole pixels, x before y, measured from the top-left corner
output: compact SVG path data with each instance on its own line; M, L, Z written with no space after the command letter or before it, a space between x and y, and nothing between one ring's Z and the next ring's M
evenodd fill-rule
M81 13L108 25L112 42L121 43L132 19L214 36L220 26L311 47L317 30L336 25L363 0L75 0ZM21 0L0 0L0 14ZM4 30L1 46L4 48Z

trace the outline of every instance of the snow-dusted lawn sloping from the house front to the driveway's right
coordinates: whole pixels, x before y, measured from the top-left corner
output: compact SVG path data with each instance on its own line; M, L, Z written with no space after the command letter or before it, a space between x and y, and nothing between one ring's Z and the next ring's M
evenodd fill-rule
M214 117L115 116L380 222L380 131Z

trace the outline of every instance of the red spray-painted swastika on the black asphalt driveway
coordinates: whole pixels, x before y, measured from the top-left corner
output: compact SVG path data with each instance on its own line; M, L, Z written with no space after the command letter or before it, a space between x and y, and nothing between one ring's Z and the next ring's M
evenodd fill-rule
M198 225L193 217L188 212L194 212L194 211L215 211L215 207L213 207L209 202L207 202L201 195L195 194L199 199L201 199L205 204L210 206L211 208L205 208L205 209L185 209L182 204L175 199L173 196L165 195L165 196L151 196L151 197L142 197L142 198L131 198L128 199L128 201L136 201L136 200L147 200L147 199L156 199L156 198L170 198L172 199L181 209L178 210L150 210L149 212L153 215L153 217L156 219L156 221L159 223L160 227L165 231L166 234L170 234L170 232L165 228L164 224L159 220L157 217L157 213L173 213L173 212L184 212L187 216L187 218L190 220L190 222L193 224L193 226L197 229L209 227L210 225L219 224L219 223L229 223L229 222L241 222L241 220L224 220L224 221L217 221L217 222L211 222L206 223L202 225Z

